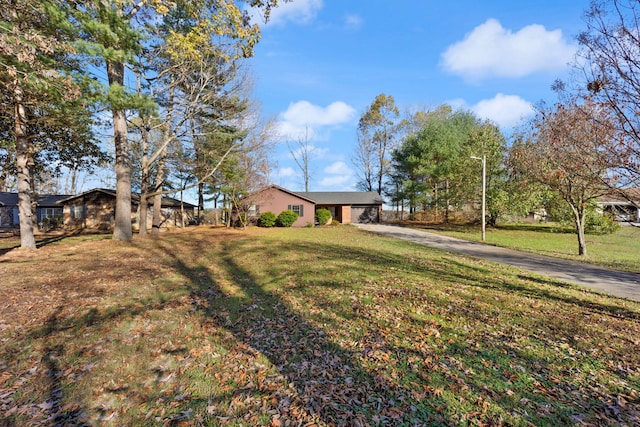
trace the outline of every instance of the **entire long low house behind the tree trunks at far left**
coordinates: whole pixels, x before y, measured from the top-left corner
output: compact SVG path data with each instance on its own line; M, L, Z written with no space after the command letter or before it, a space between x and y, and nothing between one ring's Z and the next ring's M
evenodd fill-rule
M76 195L37 196L36 212L38 224L57 221L65 229L113 230L115 222L115 190L96 188ZM131 195L131 224L138 224L140 196ZM189 224L194 219L195 205L164 196L162 198L163 228L180 227L182 215ZM152 206L149 206L151 226ZM0 193L0 227L17 227L18 194Z

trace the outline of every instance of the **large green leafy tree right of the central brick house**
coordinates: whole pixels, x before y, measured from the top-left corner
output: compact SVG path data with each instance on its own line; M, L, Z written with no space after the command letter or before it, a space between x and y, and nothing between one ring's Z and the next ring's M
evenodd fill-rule
M495 125L448 105L426 112L421 120L421 129L393 151L394 175L401 183L396 197L408 201L410 212L434 209L447 221L450 206L479 194L481 174L471 157L486 156L493 177L502 166L505 139Z

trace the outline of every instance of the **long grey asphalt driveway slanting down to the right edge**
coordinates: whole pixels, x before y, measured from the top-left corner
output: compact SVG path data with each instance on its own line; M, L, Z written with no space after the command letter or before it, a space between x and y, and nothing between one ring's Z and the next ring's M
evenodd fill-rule
M354 225L373 233L397 237L421 245L483 258L500 264L512 265L565 282L598 289L618 297L640 301L640 274L614 271L575 261L518 252L395 225Z

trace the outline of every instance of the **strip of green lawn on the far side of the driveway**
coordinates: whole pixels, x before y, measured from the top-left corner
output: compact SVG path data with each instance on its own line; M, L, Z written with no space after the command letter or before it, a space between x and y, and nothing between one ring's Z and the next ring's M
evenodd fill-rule
M411 225L459 239L480 242L480 226ZM578 256L578 239L570 228L557 224L504 224L487 227L486 243L558 258L584 261L640 273L640 228L620 227L613 234L587 234L587 256Z

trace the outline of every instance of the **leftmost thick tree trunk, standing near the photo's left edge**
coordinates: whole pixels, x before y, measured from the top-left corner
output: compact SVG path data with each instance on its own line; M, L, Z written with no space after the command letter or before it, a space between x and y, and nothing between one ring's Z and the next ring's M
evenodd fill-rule
M18 173L18 215L20 218L20 247L35 249L33 235L33 211L31 209L31 171L29 163L33 156L33 147L27 138L27 118L22 104L22 90L16 87L15 96L15 132L16 132L16 169Z

